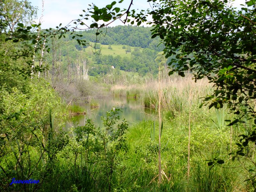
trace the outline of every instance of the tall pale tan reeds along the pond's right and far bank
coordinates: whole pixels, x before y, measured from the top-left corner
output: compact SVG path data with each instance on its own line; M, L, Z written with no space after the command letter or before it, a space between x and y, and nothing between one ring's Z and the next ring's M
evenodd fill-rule
M163 110L169 112L170 116L181 113L188 106L189 92L193 95L192 103L199 103L200 97L204 97L211 92L211 85L207 79L198 80L197 83L192 79L191 74L186 77L170 76L170 78L161 81ZM111 91L113 95L124 95L127 97L136 97L144 104L145 108L157 108L158 106L158 82L153 80L147 84L139 85L115 85Z

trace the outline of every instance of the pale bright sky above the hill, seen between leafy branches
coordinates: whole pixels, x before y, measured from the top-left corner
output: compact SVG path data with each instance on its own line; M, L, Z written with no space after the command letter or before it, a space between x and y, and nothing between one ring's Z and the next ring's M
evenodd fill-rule
M79 15L84 14L82 10L87 11L88 4L95 4L99 8L110 4L114 0L44 0L44 12L42 19L42 28L55 28L62 23L62 26L66 26L71 20L81 18ZM38 7L38 14L36 23L39 22L39 18L42 14L42 0L30 0L33 6ZM116 0L118 2L118 0ZM131 0L124 0L122 4L116 4L116 6L122 8L128 8ZM234 6L241 7L240 4L245 4L245 0L235 0ZM133 0L132 9L151 9L149 3L146 0ZM87 22L86 24L91 24ZM111 27L116 25L124 25L120 20L116 20L111 23ZM146 24L142 24L146 26Z

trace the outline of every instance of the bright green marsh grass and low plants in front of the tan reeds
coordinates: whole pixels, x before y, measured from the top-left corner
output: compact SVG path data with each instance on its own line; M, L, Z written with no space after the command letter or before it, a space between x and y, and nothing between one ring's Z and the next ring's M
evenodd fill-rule
M162 133L163 183L157 182L157 154L152 153L152 144L157 144L153 137L158 137L158 122L142 121L130 127L126 133L130 150L124 160L126 171L123 172L125 183L134 183L136 191L187 191L187 192L222 192L243 191L246 182L245 173L239 164L227 156L229 130L212 129L212 120L205 115L208 109L195 109L191 105L191 140L190 140L190 177L187 179L188 166L188 114L187 111L169 121L164 119ZM215 111L208 113L214 115ZM201 117L198 117L201 116ZM154 136L153 136L154 134ZM151 147L150 147L151 146ZM225 166L208 166L207 160L222 158ZM136 169L133 169L136 167ZM226 168L225 168L226 167Z

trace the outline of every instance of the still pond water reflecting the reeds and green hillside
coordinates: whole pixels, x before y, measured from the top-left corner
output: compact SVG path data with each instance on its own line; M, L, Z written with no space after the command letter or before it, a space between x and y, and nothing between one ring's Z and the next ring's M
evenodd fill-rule
M113 107L120 108L120 120L122 122L125 118L129 125L140 122L142 120L156 118L156 111L154 109L148 109L143 106L138 100L133 98L113 98L108 97L98 100L98 108L90 108L90 104L81 106L86 111L86 115L76 115L68 117L65 125L65 130L72 126L84 126L86 119L90 118L93 120L95 126L102 127L101 116L106 116L106 111L111 110Z

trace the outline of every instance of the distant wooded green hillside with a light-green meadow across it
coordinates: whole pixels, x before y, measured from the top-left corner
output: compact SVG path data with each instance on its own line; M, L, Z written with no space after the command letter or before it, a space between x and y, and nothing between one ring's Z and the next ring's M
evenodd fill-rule
M44 63L51 68L52 63L56 63L55 73L65 76L72 75L71 71L76 70L79 58L87 61L90 76L107 74L111 66L138 72L141 76L157 74L155 59L157 53L163 50L163 44L160 44L160 38L151 39L151 29L131 25L109 27L97 37L97 43L96 29L80 31L81 39L88 42L87 46L79 45L70 33L65 38L52 38Z

